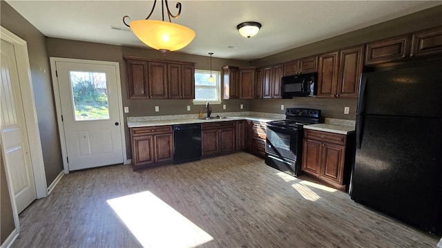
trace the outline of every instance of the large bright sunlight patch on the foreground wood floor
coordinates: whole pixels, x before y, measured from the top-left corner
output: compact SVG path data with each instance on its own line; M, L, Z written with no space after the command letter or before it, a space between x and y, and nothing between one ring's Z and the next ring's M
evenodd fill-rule
M107 202L143 247L198 247L213 240L150 191Z

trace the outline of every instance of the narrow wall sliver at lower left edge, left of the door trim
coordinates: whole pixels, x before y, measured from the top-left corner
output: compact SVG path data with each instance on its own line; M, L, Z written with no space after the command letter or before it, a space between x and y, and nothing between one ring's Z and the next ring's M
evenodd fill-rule
M3 153L0 151L0 245L5 242L6 238L8 238L10 233L15 229L4 165Z

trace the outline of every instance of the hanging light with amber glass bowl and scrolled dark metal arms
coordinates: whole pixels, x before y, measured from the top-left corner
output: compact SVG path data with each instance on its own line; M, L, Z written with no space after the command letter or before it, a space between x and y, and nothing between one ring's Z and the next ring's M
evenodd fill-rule
M172 15L169 10L167 0L161 1L162 21L149 20L157 0L153 2L152 10L146 19L130 21L131 18L127 15L123 17L124 25L131 28L132 32L144 42L147 46L160 50L163 55L174 50L180 50L184 46L189 45L193 38L195 38L195 31L182 26L177 23L172 23L171 17L177 19L181 14L181 3L177 2L175 8L178 9L177 15ZM166 12L169 21L164 21L164 3L166 4ZM129 23L126 23L126 19L129 19Z

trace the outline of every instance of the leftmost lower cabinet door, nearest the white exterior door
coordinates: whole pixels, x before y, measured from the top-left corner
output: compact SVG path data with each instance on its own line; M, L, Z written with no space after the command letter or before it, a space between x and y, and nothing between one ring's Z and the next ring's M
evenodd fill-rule
M142 135L132 139L132 165L137 166L152 164L155 162L153 135Z

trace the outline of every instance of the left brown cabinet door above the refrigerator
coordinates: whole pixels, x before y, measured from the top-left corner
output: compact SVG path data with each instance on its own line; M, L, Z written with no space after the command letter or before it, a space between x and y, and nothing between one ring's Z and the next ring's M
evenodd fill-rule
M376 65L398 61L408 57L410 35L401 35L367 44L365 65Z

